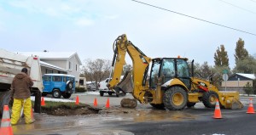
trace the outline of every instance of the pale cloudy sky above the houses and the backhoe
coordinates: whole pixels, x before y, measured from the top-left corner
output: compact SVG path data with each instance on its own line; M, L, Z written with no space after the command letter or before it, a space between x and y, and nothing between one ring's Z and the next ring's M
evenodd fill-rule
M256 0L139 0L256 35ZM148 57L181 55L214 65L224 44L234 67L236 42L256 54L256 36L131 0L0 0L0 48L79 53L112 59L113 41L126 34ZM128 63L130 60L127 60Z

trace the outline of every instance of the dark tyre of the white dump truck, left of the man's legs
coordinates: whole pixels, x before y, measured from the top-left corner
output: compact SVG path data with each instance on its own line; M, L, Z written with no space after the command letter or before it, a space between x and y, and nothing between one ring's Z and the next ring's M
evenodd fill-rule
M11 114L11 111L12 111L12 107L13 107L13 103L14 103L14 100L10 100L10 93L9 91L6 91L6 92L1 92L0 93L0 117L2 117L3 115L3 106L4 105L9 105L9 113Z

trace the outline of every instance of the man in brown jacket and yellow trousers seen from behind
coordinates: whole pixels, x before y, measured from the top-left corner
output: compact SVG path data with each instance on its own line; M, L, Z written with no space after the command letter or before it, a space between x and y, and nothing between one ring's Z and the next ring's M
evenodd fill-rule
M27 75L27 69L23 68L21 73L17 74L10 87L11 98L14 98L14 104L11 115L11 124L15 125L20 120L20 111L23 106L26 124L32 123L32 103L30 87L33 82L30 76Z

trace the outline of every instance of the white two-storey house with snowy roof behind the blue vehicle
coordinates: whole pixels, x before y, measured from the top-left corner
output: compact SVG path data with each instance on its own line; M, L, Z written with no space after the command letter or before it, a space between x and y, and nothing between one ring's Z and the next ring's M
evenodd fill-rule
M38 55L40 58L42 75L47 73L67 74L76 77L79 82L80 69L82 65L76 52L19 52L26 56Z

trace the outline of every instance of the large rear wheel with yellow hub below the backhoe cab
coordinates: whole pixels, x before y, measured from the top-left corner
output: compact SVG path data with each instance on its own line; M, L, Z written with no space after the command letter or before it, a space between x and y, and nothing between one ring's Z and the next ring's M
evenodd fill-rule
M171 87L166 90L163 102L167 110L183 110L188 102L188 93L183 87Z

